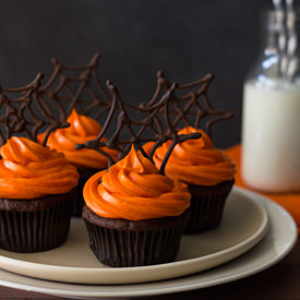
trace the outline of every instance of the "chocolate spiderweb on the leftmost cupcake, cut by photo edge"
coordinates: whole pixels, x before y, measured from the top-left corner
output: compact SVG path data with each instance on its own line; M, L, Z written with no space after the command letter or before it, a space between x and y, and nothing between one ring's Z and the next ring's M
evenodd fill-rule
M36 142L38 131L46 129L45 145L52 130L69 125L49 115L44 100L38 97L43 77L39 73L33 82L20 88L0 87L0 145L14 134L26 135Z

